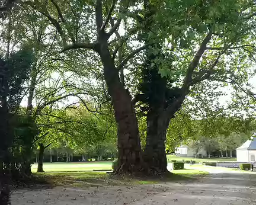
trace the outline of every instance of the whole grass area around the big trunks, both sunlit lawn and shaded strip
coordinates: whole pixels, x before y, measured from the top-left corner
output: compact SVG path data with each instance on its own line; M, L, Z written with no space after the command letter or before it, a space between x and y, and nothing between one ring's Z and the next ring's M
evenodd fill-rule
M32 166L32 171L36 172L37 164ZM55 162L44 163L44 173L34 173L38 181L46 182L52 186L62 185L73 187L86 187L98 185L139 185L156 184L167 181L193 180L208 174L206 171L196 169L183 169L172 171L165 177L136 177L116 176L106 174L105 171L97 172L93 170L111 169L111 161L108 162Z

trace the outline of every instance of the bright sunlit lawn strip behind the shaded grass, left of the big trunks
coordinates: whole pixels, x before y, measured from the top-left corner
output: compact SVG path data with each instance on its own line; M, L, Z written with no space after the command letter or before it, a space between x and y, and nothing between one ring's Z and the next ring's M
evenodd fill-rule
M43 170L45 172L70 172L70 171L93 171L102 169L111 169L112 161L104 162L44 162ZM31 167L32 172L37 171L37 164Z

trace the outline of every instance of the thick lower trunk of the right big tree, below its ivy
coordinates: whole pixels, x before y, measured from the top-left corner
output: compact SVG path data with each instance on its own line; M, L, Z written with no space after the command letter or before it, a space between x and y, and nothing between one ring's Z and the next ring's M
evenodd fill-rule
M170 119L164 115L149 113L147 117L147 137L143 159L153 172L167 172L165 139Z

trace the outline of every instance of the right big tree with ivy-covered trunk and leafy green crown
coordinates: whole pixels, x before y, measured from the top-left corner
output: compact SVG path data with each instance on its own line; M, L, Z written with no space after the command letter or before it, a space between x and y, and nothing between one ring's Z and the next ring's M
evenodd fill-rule
M191 91L204 82L215 82L208 86L229 82L238 87L248 81L252 71L248 62L254 63L255 52L255 3L166 1L162 7L158 1L151 4L158 9L160 5L161 12L156 12L155 17L160 34L153 27L148 35L164 37L165 44L160 49L153 47L148 55L151 63L148 71L142 70L146 75L137 100L147 106L143 106L148 117L146 161L151 168L164 172L168 124Z

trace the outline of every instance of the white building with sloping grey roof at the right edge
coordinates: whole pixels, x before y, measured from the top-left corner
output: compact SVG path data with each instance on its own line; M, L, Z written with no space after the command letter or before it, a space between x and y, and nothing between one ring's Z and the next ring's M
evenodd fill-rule
M256 160L256 139L252 137L236 149L238 162L255 162Z

